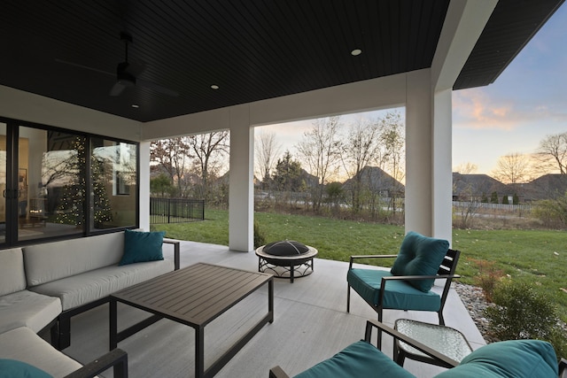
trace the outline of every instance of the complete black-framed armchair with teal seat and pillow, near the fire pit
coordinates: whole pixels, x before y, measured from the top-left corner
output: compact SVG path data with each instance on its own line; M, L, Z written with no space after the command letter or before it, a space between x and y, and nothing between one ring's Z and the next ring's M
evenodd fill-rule
M348 292L346 312L350 312L351 288L364 299L382 321L384 310L438 312L439 324L445 325L443 308L461 252L449 248L447 240L410 231L397 255L351 256L346 274ZM396 258L392 269L353 267L361 258ZM435 280L445 280L439 295L431 290ZM378 332L378 347L380 332Z

